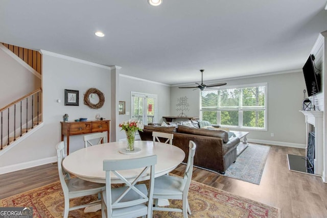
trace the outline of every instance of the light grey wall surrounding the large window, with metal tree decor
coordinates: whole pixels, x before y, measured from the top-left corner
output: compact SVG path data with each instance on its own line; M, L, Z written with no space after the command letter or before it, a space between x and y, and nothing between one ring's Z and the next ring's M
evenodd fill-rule
M262 143L305 147L305 117L299 112L303 101L303 89L306 88L302 71L219 82L226 82L227 86L267 82L267 131L246 130L250 132L248 138ZM178 115L176 104L181 96L187 96L189 99L190 111L186 114L199 116L199 91L178 87L171 89L171 115ZM274 133L274 137L270 136L271 133Z

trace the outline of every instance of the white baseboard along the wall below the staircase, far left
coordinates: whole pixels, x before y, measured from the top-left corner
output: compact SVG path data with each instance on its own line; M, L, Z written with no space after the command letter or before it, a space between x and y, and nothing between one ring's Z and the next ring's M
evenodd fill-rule
M15 172L15 171L20 171L21 169L27 169L27 168L31 168L34 166L47 164L47 163L53 163L53 162L57 162L56 156L43 158L43 159L39 159L39 160L32 160L32 161L28 161L28 162L24 162L24 163L16 163L16 164L8 165L8 166L3 166L3 167L0 167L0 175Z

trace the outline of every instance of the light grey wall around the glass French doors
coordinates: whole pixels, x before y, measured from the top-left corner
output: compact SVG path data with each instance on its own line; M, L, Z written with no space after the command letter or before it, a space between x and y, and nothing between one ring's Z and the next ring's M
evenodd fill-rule
M161 123L162 116L170 114L170 87L165 84L127 77L124 75L124 67L120 73L119 101L125 101L126 112L129 112L129 115L119 115L119 123L131 118L131 91L158 95L158 123ZM119 139L124 138L126 138L125 133L121 131Z

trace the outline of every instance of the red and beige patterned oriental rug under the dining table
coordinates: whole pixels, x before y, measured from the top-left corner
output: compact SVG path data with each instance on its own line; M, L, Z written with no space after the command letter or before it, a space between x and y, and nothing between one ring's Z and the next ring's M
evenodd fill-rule
M97 195L76 198L71 204L97 200ZM181 208L181 201L170 201ZM232 193L192 181L189 191L192 214L189 217L281 217L281 210ZM62 217L64 206L60 182L45 185L2 199L0 207L33 207L33 217ZM101 211L84 213L83 209L69 212L69 217L101 217ZM181 212L154 211L153 217L183 217Z

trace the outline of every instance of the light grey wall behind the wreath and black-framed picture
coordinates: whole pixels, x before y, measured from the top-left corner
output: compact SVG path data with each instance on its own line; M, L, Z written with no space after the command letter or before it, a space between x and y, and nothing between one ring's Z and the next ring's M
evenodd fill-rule
M104 93L101 109L91 109L83 104L84 93L89 88ZM79 90L79 106L64 106L64 89ZM110 119L110 67L100 67L43 54L43 127L17 144L0 158L0 166L8 166L56 156L55 145L61 139L62 116L69 120L80 117L95 119L97 113ZM61 102L56 101L60 99ZM82 136L71 136L69 152L84 147ZM56 160L56 159L54 159Z

